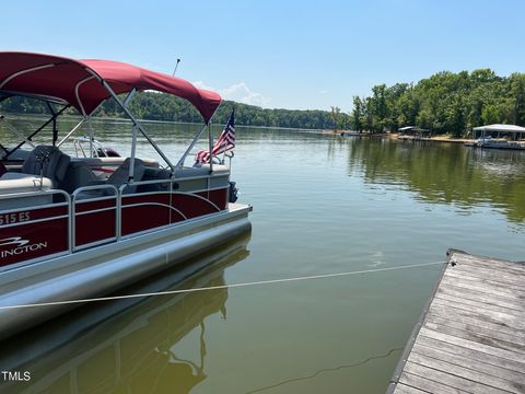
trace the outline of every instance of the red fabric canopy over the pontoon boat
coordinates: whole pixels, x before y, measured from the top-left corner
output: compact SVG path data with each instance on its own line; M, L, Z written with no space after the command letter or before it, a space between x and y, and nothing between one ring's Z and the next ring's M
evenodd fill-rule
M0 92L35 95L66 102L91 115L116 93L133 89L154 90L189 101L209 123L221 103L214 92L197 89L188 81L110 60L74 60L52 55L0 51Z

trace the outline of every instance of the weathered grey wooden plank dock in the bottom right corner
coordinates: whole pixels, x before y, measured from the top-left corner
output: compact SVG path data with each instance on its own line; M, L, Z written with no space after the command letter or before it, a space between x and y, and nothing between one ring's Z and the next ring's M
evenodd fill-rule
M525 264L450 251L387 393L525 393Z

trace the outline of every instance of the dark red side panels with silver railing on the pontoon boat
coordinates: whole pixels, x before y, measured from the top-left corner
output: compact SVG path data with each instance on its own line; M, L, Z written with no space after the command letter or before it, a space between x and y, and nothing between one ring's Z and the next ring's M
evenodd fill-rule
M72 254L217 213L228 206L229 183L219 178L226 175L147 179L118 187L104 183L71 195L61 189L2 194L0 202L18 202L0 209L0 266ZM32 246L32 254L14 251L19 244L40 246Z

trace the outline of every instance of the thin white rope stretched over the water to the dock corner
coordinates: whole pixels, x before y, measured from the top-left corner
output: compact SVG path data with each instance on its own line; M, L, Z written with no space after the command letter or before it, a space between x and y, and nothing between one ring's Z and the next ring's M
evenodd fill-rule
M431 266L431 265L436 265L436 264L446 264L446 263L445 262L432 262L432 263L411 264L411 265L387 267L387 268L364 269L364 270L359 270L359 271L323 274L323 275L312 275L312 276L292 277L292 278L282 278L282 279L258 280L258 281L244 282L244 283L210 286L210 287L192 288L192 289L167 290L167 291L148 292L148 293L139 293L139 294L109 296L109 297L100 297L100 298L81 299L81 300L38 302L38 303L21 304L21 305L3 305L3 306L0 306L0 311L1 310L20 309L20 308L56 306L56 305L97 302L97 301L115 301L115 300L125 300L125 299L143 298L143 297L180 294L180 293L190 293L190 292L196 292L196 291L234 289L234 288L242 288L242 287L248 287L248 286L284 283L284 282L293 282L293 281L300 281L300 280L337 278L337 277L345 277L345 276L350 276L350 275L384 273L384 271L390 271L390 270L397 270L397 269L425 267L425 266Z

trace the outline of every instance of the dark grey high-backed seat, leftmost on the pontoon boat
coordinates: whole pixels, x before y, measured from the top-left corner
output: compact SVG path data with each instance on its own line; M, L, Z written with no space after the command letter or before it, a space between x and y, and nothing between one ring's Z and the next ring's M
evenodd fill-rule
M71 158L62 153L57 147L38 146L30 153L30 157L22 165L22 173L43 175L51 179L52 187L60 187L66 178Z

